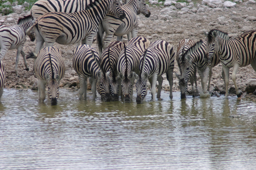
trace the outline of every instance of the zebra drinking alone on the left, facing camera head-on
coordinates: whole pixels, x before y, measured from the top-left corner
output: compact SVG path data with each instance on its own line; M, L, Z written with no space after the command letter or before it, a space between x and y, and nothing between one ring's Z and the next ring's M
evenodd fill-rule
M57 104L59 83L65 74L62 53L57 47L45 47L38 54L31 52L26 57L34 58L34 73L38 84L38 100L45 100L45 86L48 86L48 98L52 105Z

